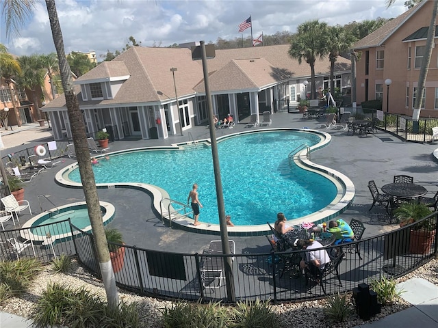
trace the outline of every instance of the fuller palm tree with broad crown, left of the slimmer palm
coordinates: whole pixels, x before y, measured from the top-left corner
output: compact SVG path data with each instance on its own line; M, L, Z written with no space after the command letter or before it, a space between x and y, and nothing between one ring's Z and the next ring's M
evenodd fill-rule
M328 53L325 44L326 23L320 23L318 19L308 20L298 25L297 33L291 38L289 56L297 59L298 64L305 60L310 66L311 72L311 99L315 99L315 61L324 58Z

